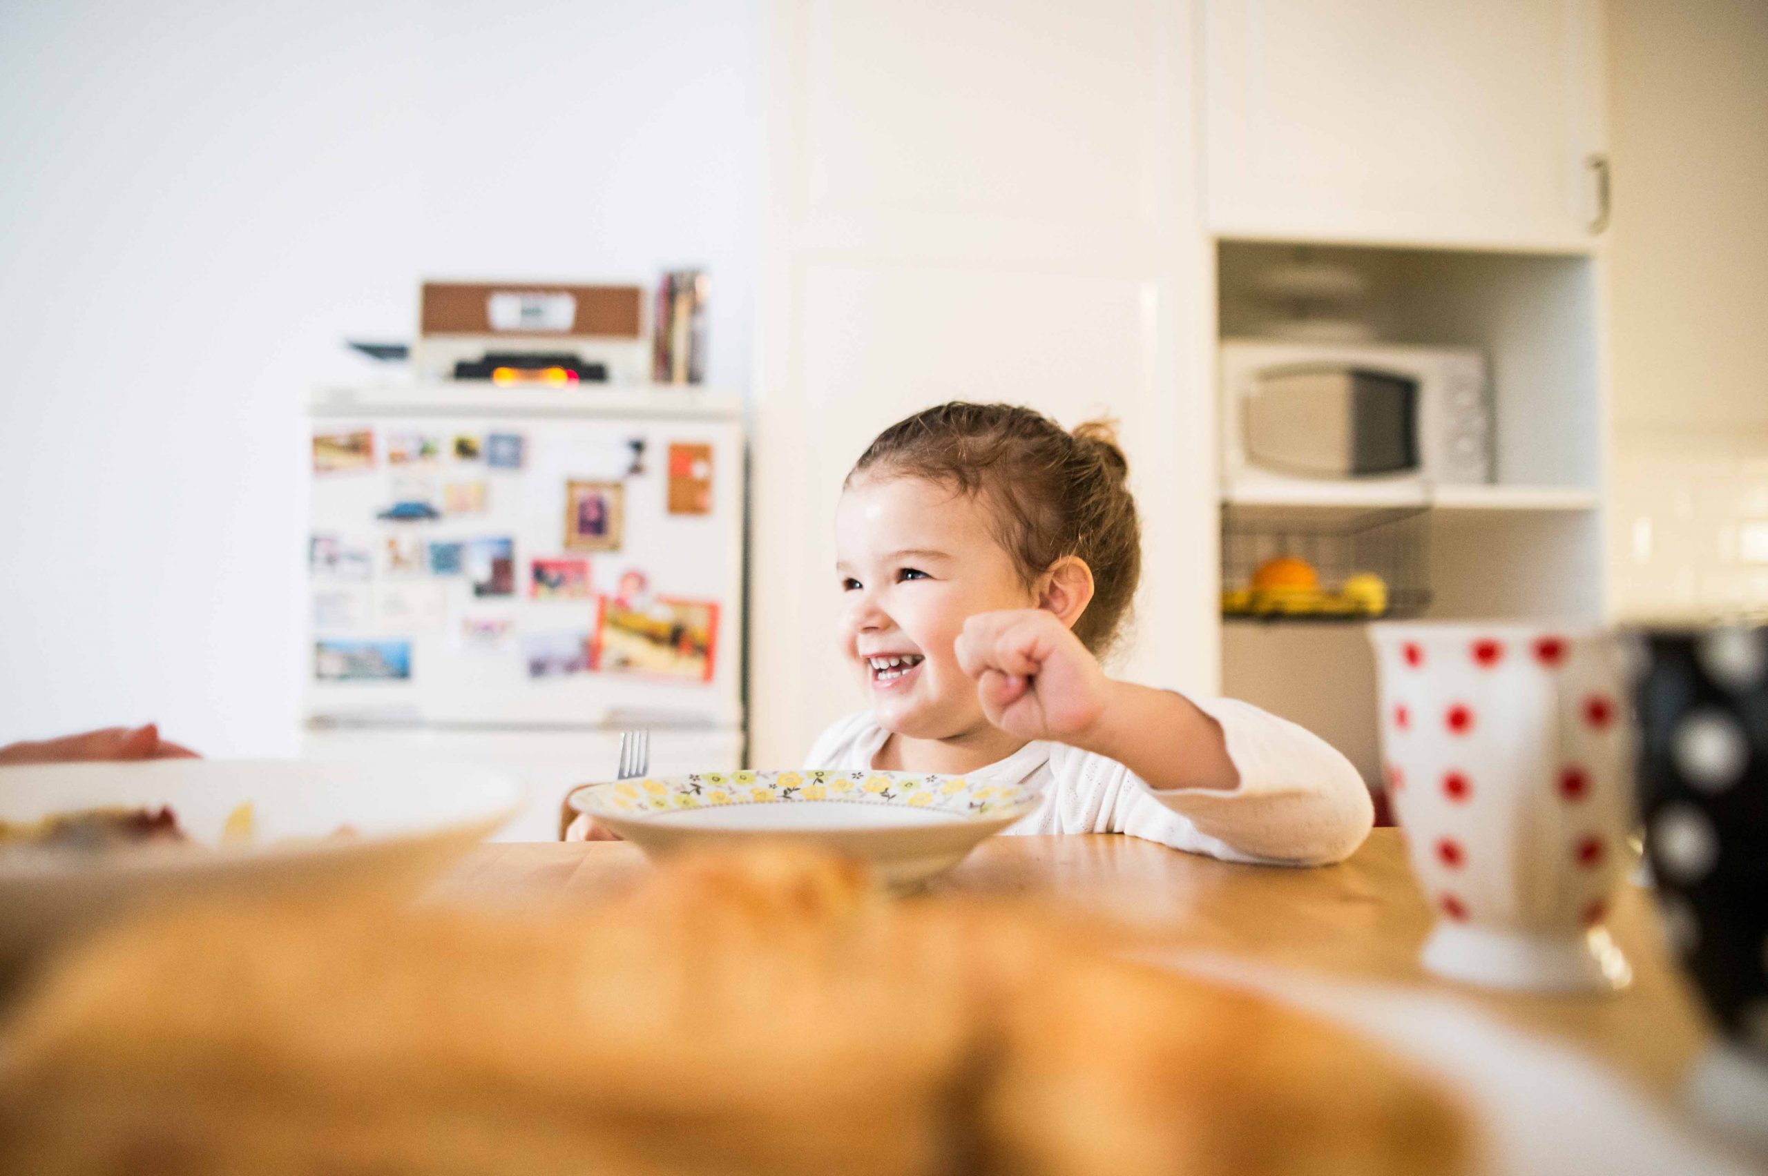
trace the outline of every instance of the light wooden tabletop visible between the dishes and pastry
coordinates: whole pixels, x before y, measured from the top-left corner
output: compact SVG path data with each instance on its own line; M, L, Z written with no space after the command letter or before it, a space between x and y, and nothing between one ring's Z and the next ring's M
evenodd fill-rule
M622 842L486 844L435 893L522 906L594 902L645 869L638 849ZM1391 828L1377 828L1340 865L1303 871L1232 865L1137 837L994 837L932 890L1055 901L1107 915L1139 945L1455 994L1593 1054L1665 1105L1711 1040L1665 952L1650 895L1637 886L1625 890L1609 923L1634 966L1625 992L1517 996L1427 975L1418 950L1430 913Z

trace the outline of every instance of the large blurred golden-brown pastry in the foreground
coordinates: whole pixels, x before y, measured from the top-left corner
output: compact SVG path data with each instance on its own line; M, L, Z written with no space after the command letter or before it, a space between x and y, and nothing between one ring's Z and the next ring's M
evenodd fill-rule
M1374 1045L1031 906L681 858L615 902L164 913L0 1029L0 1171L1457 1172Z

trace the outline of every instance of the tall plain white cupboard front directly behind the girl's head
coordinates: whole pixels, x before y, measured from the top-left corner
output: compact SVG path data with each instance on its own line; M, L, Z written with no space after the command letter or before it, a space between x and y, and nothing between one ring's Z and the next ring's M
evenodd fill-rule
M1123 673L1213 689L1190 12L774 0L769 19L753 761L803 763L866 705L836 643L834 505L873 434L948 399L1117 417L1146 537Z

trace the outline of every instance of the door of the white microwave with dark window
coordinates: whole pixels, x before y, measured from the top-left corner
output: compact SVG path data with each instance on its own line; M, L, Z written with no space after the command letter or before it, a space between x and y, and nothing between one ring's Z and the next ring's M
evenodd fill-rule
M1416 473L1418 381L1349 367L1264 371L1245 401L1246 459L1310 479Z

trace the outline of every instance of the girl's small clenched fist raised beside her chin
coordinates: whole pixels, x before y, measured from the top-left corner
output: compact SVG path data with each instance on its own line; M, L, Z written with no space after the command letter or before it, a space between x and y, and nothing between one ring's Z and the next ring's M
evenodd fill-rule
M1045 609L978 613L955 652L983 715L1008 735L1070 743L1105 710L1110 680L1098 659Z

